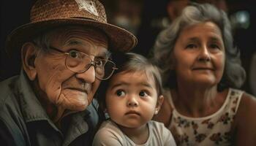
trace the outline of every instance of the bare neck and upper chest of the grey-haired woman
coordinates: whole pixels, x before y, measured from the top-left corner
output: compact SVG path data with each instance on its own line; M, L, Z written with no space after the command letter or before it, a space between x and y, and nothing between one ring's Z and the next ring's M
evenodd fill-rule
M218 93L217 85L210 88L187 85L178 89L171 91L176 110L193 118L206 117L217 112L226 97L225 92Z

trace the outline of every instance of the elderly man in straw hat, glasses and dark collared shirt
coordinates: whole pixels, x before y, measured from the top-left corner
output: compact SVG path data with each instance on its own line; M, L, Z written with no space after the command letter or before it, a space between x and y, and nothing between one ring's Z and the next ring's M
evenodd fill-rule
M116 69L110 50L137 39L107 23L97 0L39 0L31 23L7 38L19 76L0 83L0 145L90 145L99 121L93 96Z

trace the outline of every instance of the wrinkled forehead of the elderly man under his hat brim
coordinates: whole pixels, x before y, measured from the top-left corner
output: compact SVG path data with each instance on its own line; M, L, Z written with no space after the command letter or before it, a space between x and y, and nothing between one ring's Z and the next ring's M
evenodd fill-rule
M91 55L110 55L108 37L97 28L67 26L56 28L46 36L50 39L50 45L61 47L64 52L75 49Z

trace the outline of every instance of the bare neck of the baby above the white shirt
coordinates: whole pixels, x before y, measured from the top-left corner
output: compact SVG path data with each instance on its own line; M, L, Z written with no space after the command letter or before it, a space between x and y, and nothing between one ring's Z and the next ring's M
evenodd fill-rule
M129 137L129 139L132 139L132 142L137 145L144 144L148 140L149 129L147 123L138 128L127 128L121 125L118 125L118 127L124 134L127 135L127 137Z

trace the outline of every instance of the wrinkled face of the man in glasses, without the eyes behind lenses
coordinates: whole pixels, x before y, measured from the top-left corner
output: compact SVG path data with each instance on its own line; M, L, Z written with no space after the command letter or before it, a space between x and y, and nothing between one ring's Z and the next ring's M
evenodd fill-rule
M78 50L86 53L92 60L106 58L108 39L99 31L73 28L64 35L53 38L51 47L68 53ZM91 103L99 86L95 77L94 66L86 72L72 72L65 66L67 54L56 50L40 51L35 59L37 80L41 96L46 96L50 102L68 110L81 111Z

